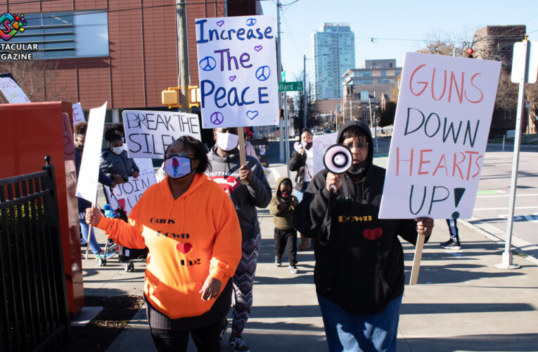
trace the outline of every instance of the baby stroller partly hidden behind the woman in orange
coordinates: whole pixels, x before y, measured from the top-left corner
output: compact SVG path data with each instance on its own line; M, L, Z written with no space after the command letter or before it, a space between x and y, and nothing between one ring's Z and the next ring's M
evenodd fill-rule
M125 210L123 210L121 204L119 201L117 201L116 199L116 196L114 195L113 193L113 190L110 189L110 194L113 196L113 198L115 199L117 205L118 205L118 208L116 208L115 210L112 208L112 206L110 206L110 204L106 204L104 207L103 207L103 210L105 210L105 216L107 218L119 218L121 220L123 220L124 222L127 222L127 213L125 213ZM106 192L105 192L105 195L106 195ZM107 199L108 201L108 199ZM110 203L110 201L108 201ZM124 270L129 272L129 271L134 271L134 263L132 262L132 260L134 259L137 259L137 258L143 258L143 259L146 259L147 256L148 256L148 248L144 248L144 249L129 249L127 247L124 247L124 246L120 246L118 244L115 244L112 240L108 239L107 243L105 244L105 256L104 258L101 258L101 263L99 263L98 261L98 264L99 265L106 265L106 253L109 253L111 251L117 251L117 257L118 259L120 260L121 263L124 263Z

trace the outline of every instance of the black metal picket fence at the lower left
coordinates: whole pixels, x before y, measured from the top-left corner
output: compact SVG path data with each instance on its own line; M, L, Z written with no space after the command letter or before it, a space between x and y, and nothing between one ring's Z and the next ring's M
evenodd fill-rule
M0 180L0 351L68 339L69 305L54 166Z

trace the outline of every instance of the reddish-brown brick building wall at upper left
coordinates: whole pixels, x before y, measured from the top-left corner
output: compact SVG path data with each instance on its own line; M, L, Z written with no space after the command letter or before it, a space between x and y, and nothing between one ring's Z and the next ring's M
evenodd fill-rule
M224 16L224 3L186 0L188 61L191 84L198 84L196 18ZM109 56L63 58L44 92L32 101L82 103L87 110L108 101L108 108L161 107L161 91L178 85L177 23L174 0L56 0L14 4L6 0L0 12L47 13L108 11ZM247 1L249 2L249 1ZM201 4L200 4L201 3ZM247 6L248 7L248 6ZM252 13L253 14L253 13ZM15 77L25 89L24 77ZM49 96L46 96L49 94Z

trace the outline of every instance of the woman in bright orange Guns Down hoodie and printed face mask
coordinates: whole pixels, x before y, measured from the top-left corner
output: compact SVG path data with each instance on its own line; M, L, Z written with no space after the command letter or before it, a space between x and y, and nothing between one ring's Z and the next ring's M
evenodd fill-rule
M148 247L144 296L159 351L186 351L189 333L198 351L220 351L241 228L229 196L205 176L208 165L203 145L180 137L165 153L167 177L144 192L129 222L86 210L86 221L117 244Z

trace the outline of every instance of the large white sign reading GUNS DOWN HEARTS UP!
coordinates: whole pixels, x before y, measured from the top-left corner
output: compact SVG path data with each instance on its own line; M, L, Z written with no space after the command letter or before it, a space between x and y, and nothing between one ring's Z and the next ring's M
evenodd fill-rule
M499 61L406 53L379 218L470 218Z

